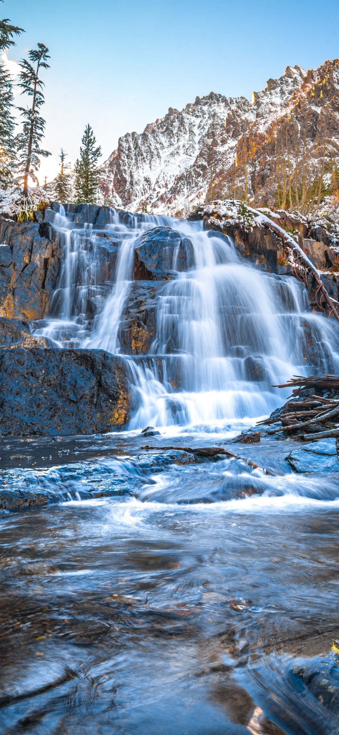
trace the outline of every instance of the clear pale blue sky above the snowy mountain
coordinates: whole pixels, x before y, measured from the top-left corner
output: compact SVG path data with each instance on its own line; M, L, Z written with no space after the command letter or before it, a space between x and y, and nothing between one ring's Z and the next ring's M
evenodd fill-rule
M334 0L4 0L0 12L26 30L10 59L37 42L50 50L48 178L61 147L76 159L88 122L103 161L120 135L142 132L168 107L181 110L211 90L249 97L288 64L316 68L339 56ZM43 181L45 165L40 171Z

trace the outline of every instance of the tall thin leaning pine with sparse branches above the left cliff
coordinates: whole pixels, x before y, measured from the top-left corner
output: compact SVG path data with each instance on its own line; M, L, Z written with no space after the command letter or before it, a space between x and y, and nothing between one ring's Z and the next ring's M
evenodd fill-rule
M20 157L20 173L23 179L23 196L28 196L29 176L34 182L39 183L34 171L38 171L40 157L50 156L49 151L40 148L40 142L45 132L45 120L40 117L40 107L44 104L42 88L43 81L39 79L40 68L49 69L46 59L49 59L48 48L43 43L37 43L37 49L29 51L29 60L37 64L34 69L26 59L21 60L21 73L19 86L21 94L32 97L32 107L19 107L23 118L23 132L17 136L18 154Z

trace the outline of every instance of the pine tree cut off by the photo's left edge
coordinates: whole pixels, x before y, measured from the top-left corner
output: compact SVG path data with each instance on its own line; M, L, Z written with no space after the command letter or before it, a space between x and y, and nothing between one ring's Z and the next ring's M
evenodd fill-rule
M0 20L0 52L15 46L15 35L23 33L23 28L11 26L9 18ZM12 115L13 96L10 73L0 62L0 187L7 189L12 183L15 168L15 121Z

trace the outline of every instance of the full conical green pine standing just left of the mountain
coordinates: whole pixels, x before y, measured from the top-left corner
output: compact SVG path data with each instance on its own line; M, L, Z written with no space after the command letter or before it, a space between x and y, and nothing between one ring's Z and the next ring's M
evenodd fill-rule
M80 159L76 160L76 203L96 204L98 199L98 185L100 171L97 168L98 158L101 157L101 146L95 148L95 135L90 125L84 130L81 140Z

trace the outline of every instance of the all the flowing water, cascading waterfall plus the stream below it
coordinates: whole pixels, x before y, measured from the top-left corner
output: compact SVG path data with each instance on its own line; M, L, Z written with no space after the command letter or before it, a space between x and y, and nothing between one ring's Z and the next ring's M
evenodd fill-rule
M335 324L200 223L111 210L95 229L60 207L53 226L34 334L123 355L134 409L120 433L1 441L1 482L51 501L1 517L1 732L339 734L339 474L292 473L299 442L228 444L282 405L271 384L338 373ZM159 228L178 237L148 284L153 340L126 354Z

